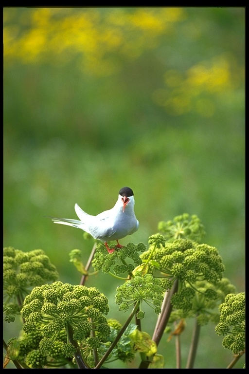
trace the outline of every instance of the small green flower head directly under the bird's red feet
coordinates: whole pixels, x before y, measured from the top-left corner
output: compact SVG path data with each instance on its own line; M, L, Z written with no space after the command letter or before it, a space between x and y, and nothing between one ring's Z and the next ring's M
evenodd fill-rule
M112 246L110 248L112 248ZM108 273L112 267L112 271L115 275L122 273L131 274L133 269L142 263L139 252L143 252L144 250L145 245L143 243L137 245L128 243L122 248L116 248L110 255L107 253L105 244L100 243L96 247L92 266L95 270L102 270L104 273ZM127 259L131 259L134 264L127 263Z

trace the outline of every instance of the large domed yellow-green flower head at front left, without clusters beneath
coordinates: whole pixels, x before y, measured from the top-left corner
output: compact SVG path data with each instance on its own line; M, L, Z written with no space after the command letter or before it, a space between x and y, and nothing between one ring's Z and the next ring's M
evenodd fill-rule
M26 333L36 329L35 323L43 323L42 336L55 337L65 326L73 329L74 340L89 337L92 329L102 338L109 335L107 319L108 300L95 287L71 285L60 281L35 287L21 309L26 323Z

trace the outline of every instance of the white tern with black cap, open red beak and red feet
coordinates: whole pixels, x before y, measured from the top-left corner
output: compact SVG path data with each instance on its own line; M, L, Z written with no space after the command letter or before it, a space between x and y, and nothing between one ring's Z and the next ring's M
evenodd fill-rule
M74 209L79 220L68 218L49 217L54 224L67 224L72 227L81 228L88 232L94 239L105 243L107 251L112 253L107 242L116 240L116 248L121 248L119 240L131 235L138 230L139 222L134 213L134 194L131 188L123 187L113 208L92 216L82 210L77 204Z

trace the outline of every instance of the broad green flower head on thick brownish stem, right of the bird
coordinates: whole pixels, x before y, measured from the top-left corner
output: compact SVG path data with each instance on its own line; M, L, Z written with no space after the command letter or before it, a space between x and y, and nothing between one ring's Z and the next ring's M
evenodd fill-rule
M160 235L160 234L158 234ZM178 279L178 292L172 303L176 309L188 313L192 309L196 290L201 281L216 285L223 277L224 265L218 250L208 244L198 244L187 239L151 245L141 255L142 261L148 261L148 272L161 278L164 290L170 289ZM211 299L211 291L207 290L206 298Z

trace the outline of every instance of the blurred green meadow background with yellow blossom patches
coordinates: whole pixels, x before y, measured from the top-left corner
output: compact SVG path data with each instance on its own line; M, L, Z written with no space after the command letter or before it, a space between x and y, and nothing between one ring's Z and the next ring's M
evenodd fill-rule
M43 249L60 280L78 284L69 252L81 249L86 263L93 242L46 216L77 218L75 203L98 214L128 186L140 228L122 244L197 214L203 242L243 292L245 9L6 7L3 16L4 246ZM99 273L87 285L124 321L118 284ZM230 362L213 329L202 330L196 368ZM166 368L170 350L160 346Z

